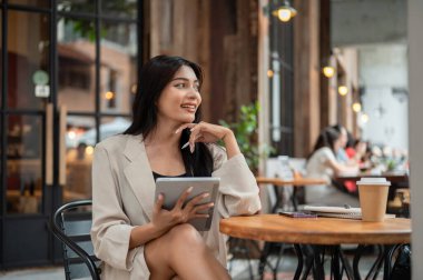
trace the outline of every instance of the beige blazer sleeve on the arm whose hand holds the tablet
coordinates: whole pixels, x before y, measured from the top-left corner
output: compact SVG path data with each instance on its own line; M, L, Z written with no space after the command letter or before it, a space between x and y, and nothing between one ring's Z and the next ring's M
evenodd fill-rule
M109 266L131 270L142 248L129 249L132 226L125 214L118 187L118 171L101 143L96 146L92 161L91 240L96 256Z

